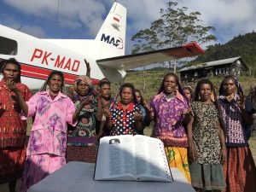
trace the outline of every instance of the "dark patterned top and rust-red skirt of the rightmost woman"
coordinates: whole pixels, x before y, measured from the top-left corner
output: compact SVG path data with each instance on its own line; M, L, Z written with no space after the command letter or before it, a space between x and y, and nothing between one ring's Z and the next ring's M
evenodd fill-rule
M227 131L227 161L224 164L226 191L256 192L256 168L247 143L249 126L242 119L241 109L237 105L238 99L238 95L230 102L225 96L218 98Z

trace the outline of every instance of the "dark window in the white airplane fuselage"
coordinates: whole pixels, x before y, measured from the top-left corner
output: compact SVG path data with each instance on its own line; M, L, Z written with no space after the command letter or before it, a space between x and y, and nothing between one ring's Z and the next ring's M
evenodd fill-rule
M17 55L18 44L10 38L0 36L0 54L2 55Z

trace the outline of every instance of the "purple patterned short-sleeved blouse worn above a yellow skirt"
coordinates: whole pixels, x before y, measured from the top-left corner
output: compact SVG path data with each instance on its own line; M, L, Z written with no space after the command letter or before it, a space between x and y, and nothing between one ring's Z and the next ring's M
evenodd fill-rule
M159 138L166 146L189 147L188 137L183 127L183 113L189 109L184 97L177 91L170 101L164 92L154 96L150 103L154 116L153 137Z

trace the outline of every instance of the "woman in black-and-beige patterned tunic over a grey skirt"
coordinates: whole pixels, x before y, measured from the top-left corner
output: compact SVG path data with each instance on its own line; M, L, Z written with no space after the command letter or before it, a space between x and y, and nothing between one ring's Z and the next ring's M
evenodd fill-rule
M210 80L202 79L197 83L191 108L188 124L191 184L201 192L224 190L224 122Z

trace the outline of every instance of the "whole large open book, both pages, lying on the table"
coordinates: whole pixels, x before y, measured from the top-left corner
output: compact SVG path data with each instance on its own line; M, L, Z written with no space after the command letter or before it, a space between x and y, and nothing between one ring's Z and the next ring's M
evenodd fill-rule
M172 182L164 144L141 135L102 137L95 180Z

